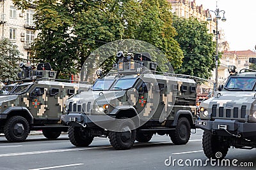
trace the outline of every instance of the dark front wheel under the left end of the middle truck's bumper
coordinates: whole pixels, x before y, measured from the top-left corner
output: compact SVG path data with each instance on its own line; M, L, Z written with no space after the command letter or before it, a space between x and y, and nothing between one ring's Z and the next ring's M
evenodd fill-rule
M71 125L68 127L68 138L75 146L89 146L94 137L89 136L88 131L83 127L74 127Z

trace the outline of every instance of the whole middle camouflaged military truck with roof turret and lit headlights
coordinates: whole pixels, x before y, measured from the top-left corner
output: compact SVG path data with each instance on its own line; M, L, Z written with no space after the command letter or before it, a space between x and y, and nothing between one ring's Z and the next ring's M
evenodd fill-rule
M116 150L167 134L176 145L188 143L195 128L196 82L186 76L156 71L150 53L118 52L116 73L100 76L88 92L65 103L62 120L75 146L95 137L109 138Z

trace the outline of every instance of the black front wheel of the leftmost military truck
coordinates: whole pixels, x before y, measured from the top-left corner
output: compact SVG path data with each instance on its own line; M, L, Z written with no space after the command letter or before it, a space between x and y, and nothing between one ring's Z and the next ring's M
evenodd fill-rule
M4 136L10 142L25 141L28 137L28 134L29 124L24 117L11 117L4 125Z

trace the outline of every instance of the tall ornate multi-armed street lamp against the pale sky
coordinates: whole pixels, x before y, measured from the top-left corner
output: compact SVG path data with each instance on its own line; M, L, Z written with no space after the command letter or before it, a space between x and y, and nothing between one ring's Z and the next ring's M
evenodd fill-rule
M218 31L218 20L220 20L220 18L221 18L220 13L221 12L223 13L223 17L221 18L221 21L225 22L227 19L224 16L225 15L225 11L224 10L220 11L219 8L217 8L217 6L216 6L216 10L215 11L212 11L212 10L208 11L209 17L207 18L207 21L211 21L212 20L210 12L214 13L214 15L216 16L215 17L216 31L213 31L213 33L216 36L216 57L215 57L216 78L215 78L215 89L214 89L214 91L217 91L217 89L218 89L218 35L220 34L220 32Z

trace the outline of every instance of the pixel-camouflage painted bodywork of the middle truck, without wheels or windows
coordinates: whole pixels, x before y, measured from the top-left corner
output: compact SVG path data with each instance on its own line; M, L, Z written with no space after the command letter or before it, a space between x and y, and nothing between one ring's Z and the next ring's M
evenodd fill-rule
M90 90L88 92L81 92L79 95L66 101L66 111L68 113L86 113L86 115L111 115L115 114L112 111L117 106L131 106L131 108L136 109L137 113L141 113L141 119L147 120L150 117L152 120L163 122L163 124L166 117L173 120L175 113L181 109L191 111L193 117L196 117L196 90L190 90L192 87L196 89L194 80L160 74L154 74L156 82L152 82L152 74L143 74L143 78L133 74L120 77L109 76L107 79L118 80L119 78L137 78L138 81L129 90ZM147 92L141 94L139 89L140 84L143 82L147 85ZM164 84L163 95L161 97L159 97L159 93L161 92L159 83ZM186 87L186 90L182 90L182 85ZM104 106L104 104L109 105L107 113L95 110ZM68 106L70 107L68 108ZM78 111L78 107L84 109Z

